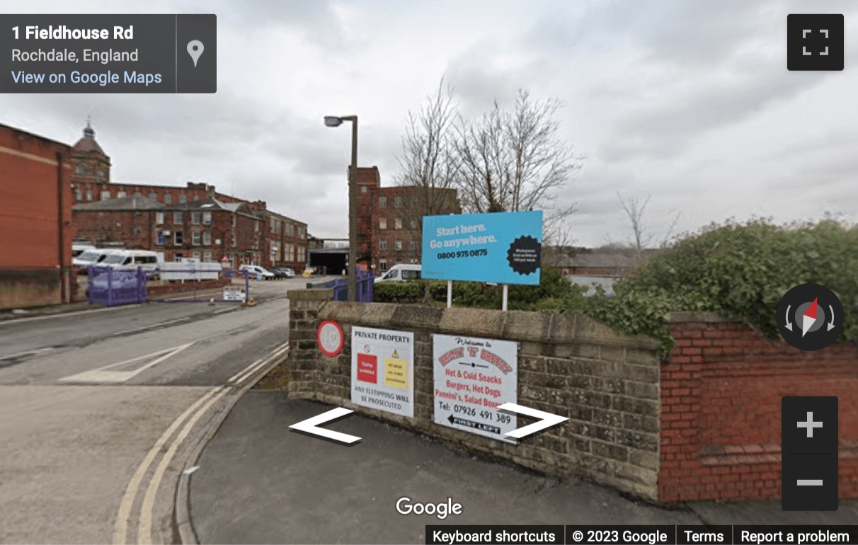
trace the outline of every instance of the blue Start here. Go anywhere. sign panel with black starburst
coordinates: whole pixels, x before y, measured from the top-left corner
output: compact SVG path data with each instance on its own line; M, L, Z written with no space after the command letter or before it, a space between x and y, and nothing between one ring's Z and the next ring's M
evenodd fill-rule
M423 278L537 285L542 211L423 217Z

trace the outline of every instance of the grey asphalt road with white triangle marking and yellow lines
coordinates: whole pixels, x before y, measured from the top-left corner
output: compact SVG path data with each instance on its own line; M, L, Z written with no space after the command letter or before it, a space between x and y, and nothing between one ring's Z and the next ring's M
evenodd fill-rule
M0 542L176 542L194 433L284 354L288 289L0 322Z

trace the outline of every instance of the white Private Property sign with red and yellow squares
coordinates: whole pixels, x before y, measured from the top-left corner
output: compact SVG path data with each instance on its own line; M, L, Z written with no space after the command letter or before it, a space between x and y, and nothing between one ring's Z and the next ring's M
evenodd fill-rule
M352 328L352 403L414 418L414 333Z

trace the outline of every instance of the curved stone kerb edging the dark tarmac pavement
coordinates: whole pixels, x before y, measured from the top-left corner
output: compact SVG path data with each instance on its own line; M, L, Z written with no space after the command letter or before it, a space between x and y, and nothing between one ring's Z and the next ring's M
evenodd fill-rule
M176 485L176 496L173 507L173 524L175 525L176 530L178 530L179 542L182 543L182 545L199 545L199 541L196 538L196 530L194 530L194 523L190 518L190 475L184 473L185 469L193 467L197 460L200 459L202 451L206 448L209 441L215 437L215 433L221 429L221 425L227 420L227 416L233 410L235 404L239 403L241 397L244 397L248 390L251 390L251 388L256 386L257 383L262 380L269 371L271 371L271 369L285 361L288 354L289 350L280 357L269 362L268 365L257 370L257 372L253 373L251 380L246 381L245 385L242 386L239 391L234 391L232 394L227 396L226 403L221 404L221 408L216 410L215 413L209 417L206 422L206 427L198 436L199 439L197 439L196 445L194 445L190 450L189 455L184 458L182 463L179 464L179 467L182 468L182 470L179 473L178 483Z

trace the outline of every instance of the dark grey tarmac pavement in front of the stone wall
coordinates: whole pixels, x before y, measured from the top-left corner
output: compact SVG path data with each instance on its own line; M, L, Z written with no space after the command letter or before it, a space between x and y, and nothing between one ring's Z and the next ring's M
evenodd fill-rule
M778 503L699 502L665 509L588 481L536 475L471 457L359 415L326 426L362 440L347 447L291 432L332 409L248 391L190 480L201 543L423 543L426 524L854 524L838 512L782 512ZM228 493L225 493L228 491ZM462 515L402 515L396 500L452 498Z

